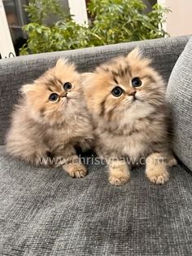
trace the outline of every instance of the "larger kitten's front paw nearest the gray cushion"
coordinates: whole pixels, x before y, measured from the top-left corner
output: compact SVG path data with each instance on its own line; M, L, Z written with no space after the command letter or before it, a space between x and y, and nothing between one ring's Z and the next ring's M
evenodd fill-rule
M146 176L152 183L164 184L168 181L168 171L165 166L155 166L151 170L146 170Z

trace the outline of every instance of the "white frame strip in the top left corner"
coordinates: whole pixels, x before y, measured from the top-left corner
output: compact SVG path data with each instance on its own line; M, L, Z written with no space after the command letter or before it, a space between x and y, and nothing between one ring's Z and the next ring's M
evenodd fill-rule
M15 49L11 39L11 33L2 0L0 0L0 35L0 53L2 59L15 57Z

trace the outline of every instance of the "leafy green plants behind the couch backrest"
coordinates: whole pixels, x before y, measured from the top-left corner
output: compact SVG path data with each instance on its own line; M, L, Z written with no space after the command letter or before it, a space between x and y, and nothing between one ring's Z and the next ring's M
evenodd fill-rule
M80 25L62 11L58 1L29 1L26 11L31 23L24 26L28 42L20 49L21 55L163 38L166 35L163 23L169 10L158 4L147 13L142 0L91 0L88 11L93 22ZM45 24L44 20L53 14L60 20Z

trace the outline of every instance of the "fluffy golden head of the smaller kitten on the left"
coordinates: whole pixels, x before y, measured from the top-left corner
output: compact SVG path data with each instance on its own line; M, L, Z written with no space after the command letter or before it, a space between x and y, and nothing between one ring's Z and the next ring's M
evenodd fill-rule
M54 68L21 90L39 121L60 122L61 118L70 116L82 100L80 75L75 66L65 60L58 60Z

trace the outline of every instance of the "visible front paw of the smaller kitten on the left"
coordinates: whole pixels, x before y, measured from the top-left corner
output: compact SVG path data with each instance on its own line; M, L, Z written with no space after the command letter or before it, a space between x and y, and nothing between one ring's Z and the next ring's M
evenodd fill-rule
M63 166L72 178L83 178L87 174L85 166L81 164L68 164Z

